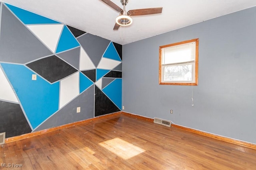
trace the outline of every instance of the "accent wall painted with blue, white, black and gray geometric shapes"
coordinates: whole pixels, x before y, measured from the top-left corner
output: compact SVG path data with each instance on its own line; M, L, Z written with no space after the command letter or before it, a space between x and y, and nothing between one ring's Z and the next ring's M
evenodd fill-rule
M121 110L122 45L2 2L0 18L0 133Z

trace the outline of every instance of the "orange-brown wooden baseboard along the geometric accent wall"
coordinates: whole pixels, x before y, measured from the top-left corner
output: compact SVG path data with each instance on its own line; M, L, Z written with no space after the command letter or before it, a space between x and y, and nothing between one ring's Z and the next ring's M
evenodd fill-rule
M86 123L86 122L89 122L89 121L95 121L95 120L98 120L98 119L104 119L104 118L107 118L107 117L112 117L113 115L118 115L118 114L121 114L121 111L116 112L116 113L111 113L111 114L108 114L108 115L102 115L102 116L94 117L94 118L91 118L91 119L86 119L86 120L82 120L82 121L76 121L74 123L69 123L69 124L66 124L66 125L52 127L52 128L45 129L45 130L42 130L42 131L36 131L36 132L32 132L32 133L26 133L26 134L20 135L20 136L9 137L9 138L5 139L5 143L10 143L10 142L13 142L13 141L18 141L18 140L21 140L21 139L26 139L28 137L33 137L33 136L37 136L37 135L42 135L44 133L49 133L49 132L57 131L57 130L64 129L64 128L67 128L67 127L72 127L72 126L80 125L82 123Z

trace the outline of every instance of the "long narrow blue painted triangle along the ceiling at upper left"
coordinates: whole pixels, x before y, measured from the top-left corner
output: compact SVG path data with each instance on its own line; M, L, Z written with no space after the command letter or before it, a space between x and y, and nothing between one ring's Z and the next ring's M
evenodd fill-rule
M10 10L24 23L24 24L45 24L45 23L59 23L49 18L40 16L38 14L23 10L16 6L6 4Z

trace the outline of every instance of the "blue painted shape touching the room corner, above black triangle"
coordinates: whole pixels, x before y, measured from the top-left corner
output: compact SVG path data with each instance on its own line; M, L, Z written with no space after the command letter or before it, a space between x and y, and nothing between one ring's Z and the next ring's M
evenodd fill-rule
M116 79L102 90L121 110L122 107L122 79Z

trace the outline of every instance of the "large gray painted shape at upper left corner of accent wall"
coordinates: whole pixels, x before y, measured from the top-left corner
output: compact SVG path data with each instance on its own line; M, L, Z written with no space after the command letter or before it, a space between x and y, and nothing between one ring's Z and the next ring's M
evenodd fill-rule
M2 6L0 59L11 63L28 63L52 55L7 8Z

